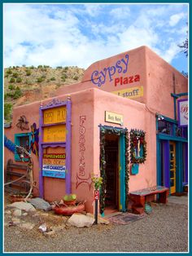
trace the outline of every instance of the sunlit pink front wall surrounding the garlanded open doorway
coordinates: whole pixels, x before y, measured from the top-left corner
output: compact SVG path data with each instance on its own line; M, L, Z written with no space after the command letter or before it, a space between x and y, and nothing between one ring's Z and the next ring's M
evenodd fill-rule
M126 127L146 131L147 156L139 165L139 173L129 176L129 192L156 185L156 134L155 115L146 111L145 104L131 99L122 99L110 93L94 89L94 170L99 170L99 124ZM116 103L116 104L114 104ZM124 126L105 122L105 111L124 116Z

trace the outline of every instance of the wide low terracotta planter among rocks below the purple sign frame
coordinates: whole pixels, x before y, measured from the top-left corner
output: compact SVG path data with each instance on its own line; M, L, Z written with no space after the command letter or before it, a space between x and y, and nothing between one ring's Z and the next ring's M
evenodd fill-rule
M55 206L54 208L55 214L62 214L65 216L70 216L75 213L81 213L82 211L85 210L85 205L72 205L72 206L65 206L65 205L60 205L60 206Z

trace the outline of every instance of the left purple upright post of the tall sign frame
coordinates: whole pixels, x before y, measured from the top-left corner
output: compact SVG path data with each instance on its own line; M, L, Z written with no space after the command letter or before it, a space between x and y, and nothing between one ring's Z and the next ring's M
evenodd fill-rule
M42 153L43 149L41 147L42 143L42 110L41 106L39 108L39 193L40 197L44 197L44 189L43 189L43 176L42 176Z

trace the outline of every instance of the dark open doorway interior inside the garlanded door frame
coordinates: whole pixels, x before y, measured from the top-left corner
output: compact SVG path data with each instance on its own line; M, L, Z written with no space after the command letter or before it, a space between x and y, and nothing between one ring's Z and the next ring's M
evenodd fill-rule
M119 136L105 135L107 210L119 210Z

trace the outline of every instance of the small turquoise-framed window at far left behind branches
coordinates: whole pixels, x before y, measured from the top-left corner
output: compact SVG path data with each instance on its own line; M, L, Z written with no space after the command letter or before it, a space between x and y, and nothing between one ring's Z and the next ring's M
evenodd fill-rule
M25 148L28 152L30 152L30 143L31 133L15 135L15 145ZM15 152L15 161L21 161L20 156L17 152ZM24 161L28 161L27 156L24 156Z

